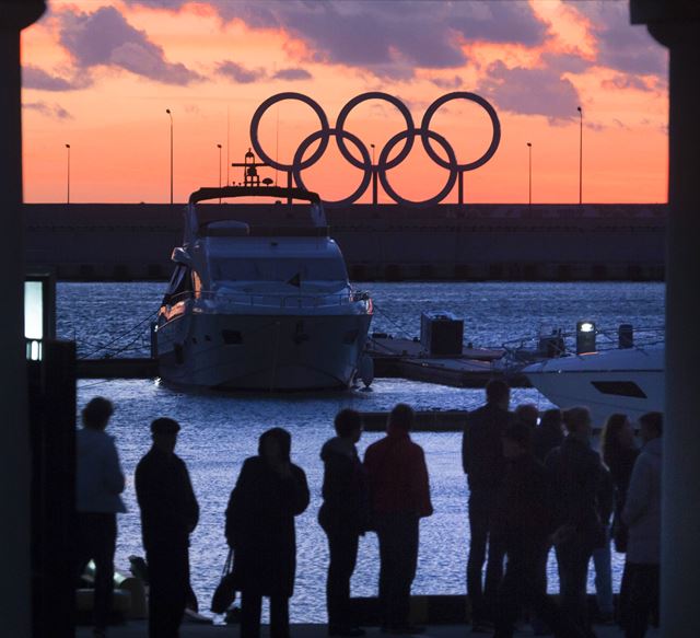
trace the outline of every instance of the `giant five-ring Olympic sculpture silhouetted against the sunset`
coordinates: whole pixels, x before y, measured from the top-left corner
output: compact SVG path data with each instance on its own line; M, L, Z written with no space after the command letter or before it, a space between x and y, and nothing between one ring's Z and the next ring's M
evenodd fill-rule
M270 106L284 100L298 100L308 105L318 116L318 120L320 123L319 130L312 132L299 144L291 164L280 163L277 160L272 159L267 152L265 152L258 140L258 128L260 126L260 119L262 118L262 115ZM358 138L355 135L345 130L345 124L348 119L348 116L350 115L350 112L355 106L369 100L382 100L384 102L388 102L399 111L406 121L406 130L396 134L386 142L384 148L380 151L380 158L376 164L370 156L370 151L362 142L362 140L360 140L360 138ZM450 142L443 136L436 134L430 128L430 123L438 109L453 100L467 100L478 104L487 112L487 115L491 119L491 126L493 127L491 143L489 144L489 148L486 150L486 152L474 162L462 164L458 163L454 149L452 148ZM255 149L257 155L269 166L277 169L278 171L283 171L291 175L296 186L300 188L306 188L302 178L302 171L310 169L316 162L318 162L318 160L320 160L323 154L326 152L326 149L328 148L328 142L330 141L331 136L336 138L338 150L340 151L342 156L352 166L363 171L363 176L362 181L360 182L360 186L358 186L358 188L351 195L349 195L345 199L339 199L336 201L324 200L327 206L346 206L349 204L353 204L364 195L374 177L375 181L378 178L384 192L396 204L401 204L404 206L422 207L432 206L442 201L452 192L457 179L459 179L459 199L462 202L462 181L464 177L464 173L467 171L475 171L479 166L483 166L483 164L486 164L493 156L501 141L501 124L493 106L491 106L489 102L487 102L483 97L477 95L476 93L468 93L466 91L455 91L435 100L425 111L419 128L416 128L410 111L398 97L380 91L362 93L350 100L340 109L336 126L332 128L328 124L328 117L326 113L317 102L315 102L307 95L304 95L303 93L294 92L278 93L277 95L268 97L265 102L262 102L262 104L260 104L260 106L258 106L253 115L253 118L250 119L250 143ZM411 149L413 148L416 136L420 136L423 149L425 149L425 152L428 153L430 159L439 166L442 166L443 169L450 171L447 181L445 182L445 185L442 187L442 189L433 197L430 197L422 201L413 201L401 197L394 189L387 177L387 172L398 166L408 156ZM319 142L318 148L313 153L311 153L308 158L304 159L304 155L306 154L308 148L317 140ZM389 154L394 150L394 147L396 147L396 144L401 141L404 142L404 148L396 154L394 159L389 160ZM435 149L433 148L431 141L436 142L440 147L442 147L447 156L447 160L444 160L440 156L440 154L435 152ZM362 160L358 160L348 150L347 142L350 142L358 149Z

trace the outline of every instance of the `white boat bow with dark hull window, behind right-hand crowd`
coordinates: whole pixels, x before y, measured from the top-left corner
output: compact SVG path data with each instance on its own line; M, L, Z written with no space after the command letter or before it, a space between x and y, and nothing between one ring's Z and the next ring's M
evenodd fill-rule
M603 339L598 340L603 344L593 351L575 353L572 348L569 353L568 337L558 333L555 344L562 346L562 351L557 352L561 356L539 358L521 366L521 371L555 405L587 407L596 426L603 426L612 413L623 413L635 420L644 413L664 409L662 334L663 328L640 330L637 344L618 347L612 339L606 343L609 335L600 332ZM540 339L540 352L546 346Z

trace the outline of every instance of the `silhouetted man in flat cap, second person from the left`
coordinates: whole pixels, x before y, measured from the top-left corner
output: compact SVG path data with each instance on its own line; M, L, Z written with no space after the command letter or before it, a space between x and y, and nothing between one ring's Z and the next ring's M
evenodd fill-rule
M189 535L199 520L185 462L175 454L179 425L151 424L153 445L136 468L136 496L149 567L149 636L176 638L189 592Z

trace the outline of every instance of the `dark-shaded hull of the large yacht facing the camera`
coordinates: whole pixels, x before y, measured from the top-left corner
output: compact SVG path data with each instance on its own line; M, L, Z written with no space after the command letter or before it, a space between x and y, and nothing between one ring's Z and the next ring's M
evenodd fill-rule
M156 332L161 378L221 390L348 387L370 314L187 314Z

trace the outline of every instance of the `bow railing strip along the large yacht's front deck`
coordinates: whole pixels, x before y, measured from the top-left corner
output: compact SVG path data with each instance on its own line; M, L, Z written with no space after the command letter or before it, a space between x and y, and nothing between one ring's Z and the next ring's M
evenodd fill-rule
M275 292L220 292L214 290L186 291L163 300L163 305L171 308L178 303L194 301L196 303L217 302L218 304L230 304L236 306L258 306L278 309L305 309L305 308L329 308L350 305L358 302L366 302L372 309L372 300L368 291L351 291L340 293L316 294L289 294Z

